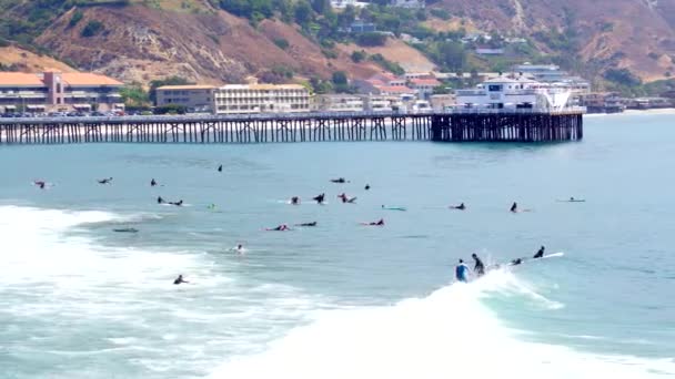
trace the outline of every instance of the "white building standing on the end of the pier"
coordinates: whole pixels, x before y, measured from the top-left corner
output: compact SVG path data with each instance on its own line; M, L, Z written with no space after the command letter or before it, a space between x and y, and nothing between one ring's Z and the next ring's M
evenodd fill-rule
M457 107L500 110L560 111L571 105L571 94L564 86L536 82L523 75L491 79L475 89L455 91Z

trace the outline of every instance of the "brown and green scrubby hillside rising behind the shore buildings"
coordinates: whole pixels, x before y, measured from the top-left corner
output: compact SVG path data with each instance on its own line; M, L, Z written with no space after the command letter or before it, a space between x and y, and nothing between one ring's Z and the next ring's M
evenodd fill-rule
M601 84L617 69L643 81L675 74L675 0L427 0L424 11L374 7L361 14L333 12L326 3L0 0L0 38L13 44L2 48L13 50L2 50L0 63L17 63L19 44L36 54L19 53L26 63L14 70L72 65L140 83L171 75L202 83L248 75L270 82L329 80L335 71L360 79L395 63L411 71L469 71L503 70L525 60L555 62ZM357 45L357 35L344 32L357 18L419 42L413 47L392 37L382 45ZM480 41L459 43L476 32L528 42L496 59L477 57L472 51ZM355 51L365 59L354 59ZM369 59L374 54L386 61Z

